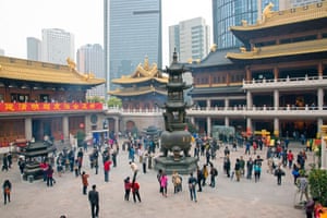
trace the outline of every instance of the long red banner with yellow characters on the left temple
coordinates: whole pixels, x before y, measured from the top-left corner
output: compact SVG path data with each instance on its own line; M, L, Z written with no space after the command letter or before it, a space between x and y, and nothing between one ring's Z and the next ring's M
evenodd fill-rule
M101 102L0 102L0 112L102 110Z

